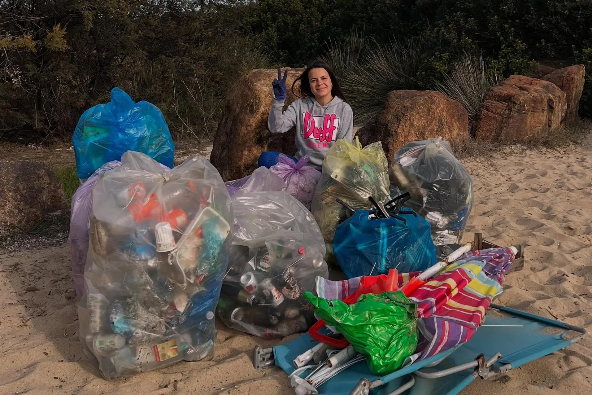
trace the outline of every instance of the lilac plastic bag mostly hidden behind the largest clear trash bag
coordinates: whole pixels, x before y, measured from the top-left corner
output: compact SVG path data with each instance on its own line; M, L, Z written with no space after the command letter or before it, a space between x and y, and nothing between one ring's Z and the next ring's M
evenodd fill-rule
M86 265L86 253L88 253L88 234L91 223L92 187L101 175L121 166L119 160L111 160L98 168L86 181L78 187L72 196L72 208L70 212L70 253L72 256L72 278L76 296L81 298L84 294L84 266ZM166 171L170 169L161 165Z

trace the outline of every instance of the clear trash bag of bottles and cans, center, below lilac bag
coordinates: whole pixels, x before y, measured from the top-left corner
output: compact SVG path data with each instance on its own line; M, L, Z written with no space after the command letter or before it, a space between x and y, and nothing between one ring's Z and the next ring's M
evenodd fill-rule
M231 266L217 312L229 327L262 338L303 332L315 322L304 300L327 277L323 236L310 212L285 191L234 195Z

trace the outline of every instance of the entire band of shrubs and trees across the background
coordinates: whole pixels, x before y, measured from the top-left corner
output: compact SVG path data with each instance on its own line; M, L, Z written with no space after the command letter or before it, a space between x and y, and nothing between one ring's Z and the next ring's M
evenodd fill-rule
M580 115L591 117L591 20L583 0L2 2L0 137L69 139L82 112L120 86L156 104L177 139L208 138L244 72L318 57L339 75L357 65L357 81L342 78L358 118L389 86L436 88L465 53L503 75L584 64ZM417 37L419 60L401 63L397 46Z

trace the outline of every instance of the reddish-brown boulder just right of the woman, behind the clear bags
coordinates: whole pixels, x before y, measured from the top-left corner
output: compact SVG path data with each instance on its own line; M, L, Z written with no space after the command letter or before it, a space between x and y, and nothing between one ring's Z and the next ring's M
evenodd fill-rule
M449 142L466 140L469 120L466 110L455 100L436 91L392 91L374 125L358 131L362 145L377 141L389 163L405 144L442 136Z

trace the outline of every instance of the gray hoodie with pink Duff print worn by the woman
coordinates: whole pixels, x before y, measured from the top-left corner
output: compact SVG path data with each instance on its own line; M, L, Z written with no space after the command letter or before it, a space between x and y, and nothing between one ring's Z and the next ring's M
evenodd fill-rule
M296 126L296 155L308 155L308 164L320 170L327 150L339 139L353 138L353 113L345 101L334 97L321 106L316 99L298 99L286 111L284 101L274 99L267 126L271 133L286 133ZM290 152L285 152L288 155Z

